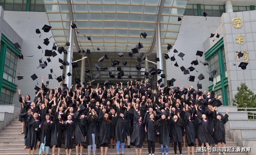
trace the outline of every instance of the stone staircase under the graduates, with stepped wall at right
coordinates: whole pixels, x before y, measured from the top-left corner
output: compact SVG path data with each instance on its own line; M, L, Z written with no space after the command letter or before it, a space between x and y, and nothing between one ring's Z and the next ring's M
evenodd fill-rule
M218 112L225 114L226 113L226 108L227 107L219 107ZM238 142L236 137L232 135L235 130L238 130L238 128L241 128L241 136L246 135L247 139L250 138L247 134L250 134L251 136L255 136L255 131L256 131L256 121L254 120L248 120L247 113L239 113L237 112L236 107L228 107L229 108L229 122L226 123L227 127L230 127L226 129L226 147L242 147L242 141ZM248 124L246 124L247 122ZM245 126L246 125L246 126ZM253 128L254 126L254 128ZM246 129L245 129L246 128ZM254 134L251 134L253 133ZM13 119L12 122L10 122L10 125L7 125L6 127L3 128L2 131L0 131L0 155L24 155L27 154L27 149L23 150L24 147L24 135L20 134L21 133L21 122L18 121L18 117L16 119ZM256 138L255 138L256 139ZM241 138L241 140L243 140ZM256 141L255 141L256 142ZM241 143L241 144L239 144ZM62 143L64 144L64 142ZM62 145L63 147L64 145ZM142 154L148 154L147 151L147 141L144 141L144 148L142 150ZM183 146L183 144L182 144ZM243 146L245 147L245 146ZM250 146L246 146L250 147ZM251 146L253 147L253 146ZM255 145L254 145L255 147ZM177 149L179 152L179 149ZM196 152L196 148L194 149ZM39 149L36 149L36 154L38 154ZM187 148L182 148L182 154L187 154ZM49 150L49 154L52 154L52 150ZM55 150L55 154L57 154L57 150ZM61 154L65 155L65 150L64 148L61 149ZM75 154L75 146L73 146L72 154ZM87 148L84 149L83 154L88 154L87 153ZM101 154L100 149L96 150L96 154ZM108 154L116 154L115 149L110 149L108 150ZM136 154L135 149L127 148L127 144L125 144L125 154ZM159 141L156 141L156 149L155 149L155 154L161 154L161 149L160 149L160 144ZM173 145L169 145L169 154L174 154L173 150ZM178 153L179 154L179 153ZM197 155L201 153L195 153ZM205 153L207 154L207 153ZM213 154L218 154L218 153L211 153ZM230 152L226 153L228 155L246 155L248 153L236 153L236 152Z

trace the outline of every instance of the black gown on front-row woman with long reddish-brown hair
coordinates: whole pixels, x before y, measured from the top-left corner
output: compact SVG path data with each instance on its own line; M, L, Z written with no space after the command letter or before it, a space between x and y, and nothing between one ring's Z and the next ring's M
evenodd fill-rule
M105 144L105 146L109 145L109 141L111 139L111 124L112 121L107 122L104 120L104 113L100 110L99 113L99 121L100 121L100 145Z

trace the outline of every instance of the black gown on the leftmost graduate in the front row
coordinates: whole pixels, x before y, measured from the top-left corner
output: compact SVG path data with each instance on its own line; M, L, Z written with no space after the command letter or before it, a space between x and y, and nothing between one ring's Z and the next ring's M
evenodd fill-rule
M35 129L39 128L39 121L36 121L33 117L33 115L29 115L27 118L27 126L28 126L28 132L27 132L27 148L36 148L37 143L37 131Z

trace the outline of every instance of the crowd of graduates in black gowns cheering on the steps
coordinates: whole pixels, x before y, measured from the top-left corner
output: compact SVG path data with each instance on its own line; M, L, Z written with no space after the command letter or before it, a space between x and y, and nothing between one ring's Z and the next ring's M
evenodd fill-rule
M228 109L225 116L217 112L222 103L214 91L184 85L179 88L177 83L173 88L166 85L153 89L146 81L128 81L125 88L122 82L120 85L110 85L106 80L104 85L93 87L86 82L80 85L76 79L76 85L70 88L65 82L50 88L42 77L42 86L35 87L34 100L18 89L24 149L30 155L36 149L39 154L51 154L52 148L52 154L58 151L59 155L65 148L70 155L74 143L77 155L83 153L84 145L89 155L99 147L102 155L108 148L124 155L127 141L128 148L135 148L138 155L147 141L148 153L154 155L159 140L162 154L168 154L172 143L175 154L177 147L182 154L183 143L188 154L194 155L194 146L225 147Z

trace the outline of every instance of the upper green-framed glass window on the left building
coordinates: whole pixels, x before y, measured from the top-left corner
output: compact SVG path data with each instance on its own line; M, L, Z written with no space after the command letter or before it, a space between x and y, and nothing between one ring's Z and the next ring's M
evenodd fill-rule
M7 48L5 55L5 67L3 79L15 82L17 55Z

